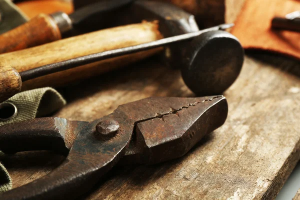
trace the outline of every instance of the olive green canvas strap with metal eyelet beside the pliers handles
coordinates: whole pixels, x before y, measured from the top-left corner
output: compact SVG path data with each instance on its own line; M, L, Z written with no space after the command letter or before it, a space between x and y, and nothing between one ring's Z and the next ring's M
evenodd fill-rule
M63 107L66 101L55 89L44 87L17 93L0 105L4 103L15 105L17 113L6 121L0 121L0 125L49 115ZM0 154L3 153L0 151ZM11 186L11 178L3 164L0 163L0 192L11 189Z

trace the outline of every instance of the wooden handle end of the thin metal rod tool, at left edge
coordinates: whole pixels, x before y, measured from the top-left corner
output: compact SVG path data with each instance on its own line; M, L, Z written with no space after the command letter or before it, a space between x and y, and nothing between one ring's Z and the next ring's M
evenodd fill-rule
M11 66L0 65L0 103L21 90L21 77Z

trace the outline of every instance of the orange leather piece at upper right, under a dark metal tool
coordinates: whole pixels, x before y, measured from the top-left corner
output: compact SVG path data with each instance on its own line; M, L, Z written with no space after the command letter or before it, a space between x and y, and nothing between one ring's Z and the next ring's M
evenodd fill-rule
M246 0L231 33L245 49L263 49L300 59L300 32L271 29L274 16L300 10L300 0Z

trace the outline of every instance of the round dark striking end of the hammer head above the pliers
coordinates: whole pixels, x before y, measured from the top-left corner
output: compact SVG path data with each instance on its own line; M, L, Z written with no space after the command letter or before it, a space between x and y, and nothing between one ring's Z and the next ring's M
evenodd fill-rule
M186 49L181 68L185 84L198 95L220 94L237 78L244 50L229 32L208 31L195 37Z

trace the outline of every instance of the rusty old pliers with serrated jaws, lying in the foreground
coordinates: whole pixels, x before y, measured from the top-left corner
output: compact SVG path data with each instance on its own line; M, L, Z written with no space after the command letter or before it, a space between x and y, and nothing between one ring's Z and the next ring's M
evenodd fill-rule
M223 96L150 97L120 105L89 123L46 117L0 126L3 152L67 154L72 146L59 167L0 194L0 199L73 199L118 161L152 164L184 155L224 123L227 111Z

